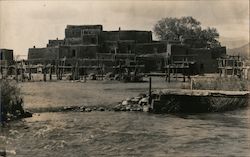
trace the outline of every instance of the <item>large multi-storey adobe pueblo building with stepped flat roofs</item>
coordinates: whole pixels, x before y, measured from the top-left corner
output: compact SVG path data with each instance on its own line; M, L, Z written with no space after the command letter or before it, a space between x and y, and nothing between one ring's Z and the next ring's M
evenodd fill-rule
M33 64L84 66L86 69L135 67L141 72L187 67L190 73L218 72L217 58L225 47L207 48L199 39L154 41L151 31L104 31L102 25L68 25L65 38L49 40L45 48L30 48Z

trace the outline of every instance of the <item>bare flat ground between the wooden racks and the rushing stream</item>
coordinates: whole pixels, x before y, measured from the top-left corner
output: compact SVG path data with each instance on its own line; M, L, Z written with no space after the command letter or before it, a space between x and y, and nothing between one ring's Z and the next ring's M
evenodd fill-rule
M148 93L148 78L143 83L122 83L118 81L54 81L22 82L21 94L24 107L53 108L80 105L111 105L140 93ZM165 82L163 77L152 78L152 90L163 88L183 88L189 83Z

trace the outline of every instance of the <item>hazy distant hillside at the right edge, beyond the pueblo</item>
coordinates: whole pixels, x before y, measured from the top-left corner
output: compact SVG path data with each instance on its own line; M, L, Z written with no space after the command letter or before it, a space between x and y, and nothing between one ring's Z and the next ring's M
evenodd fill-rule
M249 55L249 46L250 43L240 46L238 48L227 49L227 54L229 55L240 55L244 58L250 57Z

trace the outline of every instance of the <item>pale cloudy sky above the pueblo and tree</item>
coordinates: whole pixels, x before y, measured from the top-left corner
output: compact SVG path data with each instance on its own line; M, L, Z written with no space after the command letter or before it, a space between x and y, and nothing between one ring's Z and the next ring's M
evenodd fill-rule
M0 0L0 48L27 55L63 39L67 24L102 24L104 30L151 30L164 17L193 16L220 36L249 41L249 0ZM245 44L245 43L243 43Z

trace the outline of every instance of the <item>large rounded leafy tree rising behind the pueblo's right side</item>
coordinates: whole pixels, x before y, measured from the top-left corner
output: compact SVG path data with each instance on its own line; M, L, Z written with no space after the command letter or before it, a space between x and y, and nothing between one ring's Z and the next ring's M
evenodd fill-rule
M220 46L216 28L202 29L201 23L191 16L159 20L154 26L154 33L160 40L179 40L180 37L193 37L202 40L208 47Z

